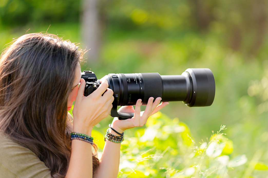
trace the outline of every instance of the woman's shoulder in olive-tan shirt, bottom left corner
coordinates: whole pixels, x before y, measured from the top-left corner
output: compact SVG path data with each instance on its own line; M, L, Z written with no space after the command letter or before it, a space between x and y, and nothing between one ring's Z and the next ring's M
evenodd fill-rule
M0 143L1 176L51 177L49 168L31 150L14 142L5 134L0 134Z

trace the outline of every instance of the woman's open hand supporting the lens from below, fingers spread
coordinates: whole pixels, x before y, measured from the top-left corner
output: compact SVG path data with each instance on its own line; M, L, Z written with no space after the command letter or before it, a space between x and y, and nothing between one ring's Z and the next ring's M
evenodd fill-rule
M144 124L146 124L147 119L149 116L157 113L160 109L168 105L168 102L163 102L161 104L161 97L158 97L153 102L154 98L150 97L148 100L148 103L146 105L145 111L140 111L140 106L142 105L142 100L137 100L135 109L133 106L123 106L120 109L118 109L118 112L123 113L133 113L134 116L131 119L126 120L118 120L117 118L114 118L111 127L114 128L119 133L124 132L126 129L133 128L133 127L142 127Z

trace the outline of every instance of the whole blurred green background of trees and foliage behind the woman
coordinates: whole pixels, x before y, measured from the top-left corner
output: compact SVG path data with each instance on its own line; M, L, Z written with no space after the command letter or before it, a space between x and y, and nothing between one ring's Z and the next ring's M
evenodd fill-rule
M82 70L210 68L210 107L171 102L125 133L118 177L267 177L268 1L0 0L0 46L47 32L89 50ZM92 135L103 148L112 118Z

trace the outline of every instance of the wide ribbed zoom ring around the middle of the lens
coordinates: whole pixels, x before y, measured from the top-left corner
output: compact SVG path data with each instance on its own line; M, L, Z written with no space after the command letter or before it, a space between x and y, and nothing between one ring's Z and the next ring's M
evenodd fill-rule
M158 73L142 73L144 81L144 101L147 103L150 97L162 97L162 79Z

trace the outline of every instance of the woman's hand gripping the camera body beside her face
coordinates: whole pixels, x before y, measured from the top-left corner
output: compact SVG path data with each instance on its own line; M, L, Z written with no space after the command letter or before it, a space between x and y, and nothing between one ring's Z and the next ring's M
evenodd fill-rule
M103 80L93 93L84 96L85 80L80 79L73 108L73 131L91 135L92 128L109 115L114 97L108 86L107 80Z

